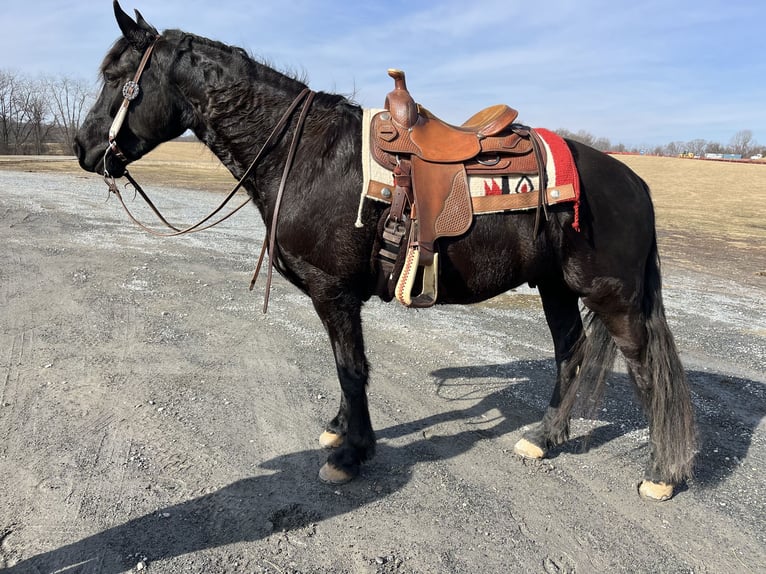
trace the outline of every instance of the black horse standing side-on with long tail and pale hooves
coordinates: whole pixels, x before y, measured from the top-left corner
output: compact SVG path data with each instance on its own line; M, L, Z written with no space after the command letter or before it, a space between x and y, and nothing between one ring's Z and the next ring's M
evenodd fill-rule
M103 89L77 134L80 165L120 177L128 163L191 130L235 177L247 173L244 187L271 232L291 137L258 150L306 86L239 48L179 30L159 34L140 13L136 20L126 15L116 0L114 9L123 36L101 65ZM144 58L147 51L151 57ZM140 92L135 97L127 89L135 99L110 147L107 134L117 123L123 86L142 64ZM281 190L269 255L278 272L311 298L330 337L342 394L320 439L332 448L320 477L341 483L375 451L361 309L373 296L390 299L373 257L385 206L365 201L364 225L354 225L362 110L340 95L314 96ZM282 131L295 131L298 115L292 113ZM558 374L541 423L516 446L522 456L543 457L568 438L576 395L603 390L619 349L650 428L651 456L639 490L664 500L691 474L696 439L685 373L665 319L649 189L621 162L574 141L567 145L580 177L579 231L571 205L551 207L537 234L534 211L477 216L464 235L440 239L438 302L474 303L522 283L538 287ZM262 157L248 172L257 152Z

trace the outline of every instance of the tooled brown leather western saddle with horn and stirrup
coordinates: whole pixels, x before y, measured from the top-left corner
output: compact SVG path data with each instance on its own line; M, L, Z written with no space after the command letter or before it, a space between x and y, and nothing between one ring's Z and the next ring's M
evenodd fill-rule
M490 106L450 125L415 102L403 71L388 74L394 89L370 125L373 158L393 172L395 185L377 258L389 294L408 307L430 307L438 294L436 240L466 233L473 221L468 176L539 175L545 190L545 153L531 128L514 123L513 108ZM539 194L538 222L544 197ZM419 271L422 289L413 295Z

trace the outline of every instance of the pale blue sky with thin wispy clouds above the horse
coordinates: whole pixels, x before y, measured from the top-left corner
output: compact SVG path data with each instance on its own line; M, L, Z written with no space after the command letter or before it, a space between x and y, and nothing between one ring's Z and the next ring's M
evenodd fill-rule
M0 69L96 80L119 35L111 0L2 0ZM241 46L309 85L380 107L386 69L460 123L506 103L520 120L613 143L766 145L766 2L719 0L122 0L159 30Z

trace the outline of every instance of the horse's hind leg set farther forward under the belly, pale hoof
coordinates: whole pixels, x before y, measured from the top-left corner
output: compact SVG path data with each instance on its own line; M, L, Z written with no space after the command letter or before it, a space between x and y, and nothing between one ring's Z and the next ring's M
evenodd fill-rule
M556 385L543 420L524 433L514 447L516 454L525 458L542 458L569 438L571 406L562 406L562 398L577 376L580 359L576 351L584 336L577 295L564 284L539 285L539 291L553 337Z

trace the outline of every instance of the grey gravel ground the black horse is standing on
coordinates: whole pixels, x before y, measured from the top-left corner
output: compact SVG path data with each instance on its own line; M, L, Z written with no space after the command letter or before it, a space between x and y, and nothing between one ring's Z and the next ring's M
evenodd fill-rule
M152 196L179 222L216 201ZM248 292L255 209L158 239L105 200L96 176L0 171L0 571L766 571L765 254L700 272L663 253L702 445L672 501L635 492L648 436L622 366L599 420L513 455L555 373L529 289L366 306L378 454L332 487L331 351L294 287L275 279L267 315L263 280Z

